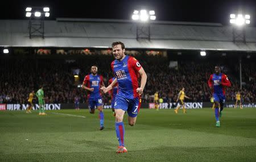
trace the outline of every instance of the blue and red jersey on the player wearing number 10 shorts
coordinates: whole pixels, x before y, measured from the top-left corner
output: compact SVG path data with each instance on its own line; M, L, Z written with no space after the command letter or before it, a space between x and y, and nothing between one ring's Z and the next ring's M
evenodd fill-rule
M99 74L93 76L93 74L89 74L84 77L84 85L88 88L94 88L93 92L88 90L88 99L101 97L101 85L103 82L103 77Z

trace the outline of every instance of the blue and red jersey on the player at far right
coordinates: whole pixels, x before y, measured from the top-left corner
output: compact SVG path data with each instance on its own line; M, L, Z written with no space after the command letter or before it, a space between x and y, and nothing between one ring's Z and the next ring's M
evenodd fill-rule
M213 87L213 94L225 95L225 86L231 86L228 77L225 74L211 74L208 80L209 87Z

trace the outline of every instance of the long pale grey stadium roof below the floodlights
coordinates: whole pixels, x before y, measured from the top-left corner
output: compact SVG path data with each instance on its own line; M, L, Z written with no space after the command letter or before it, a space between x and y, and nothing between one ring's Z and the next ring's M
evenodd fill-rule
M151 40L136 39L130 20L45 20L45 38L29 38L28 20L0 20L1 47L108 48L123 41L126 48L256 51L256 28L246 27L246 44L233 43L232 27L219 23L154 22Z

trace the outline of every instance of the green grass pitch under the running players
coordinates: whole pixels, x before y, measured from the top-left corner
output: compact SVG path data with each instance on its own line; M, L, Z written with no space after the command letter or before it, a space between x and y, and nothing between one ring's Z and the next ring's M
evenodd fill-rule
M256 161L256 109L224 109L220 128L212 109L141 109L134 127L125 114L119 155L111 110L103 131L97 110L46 113L0 111L0 161Z

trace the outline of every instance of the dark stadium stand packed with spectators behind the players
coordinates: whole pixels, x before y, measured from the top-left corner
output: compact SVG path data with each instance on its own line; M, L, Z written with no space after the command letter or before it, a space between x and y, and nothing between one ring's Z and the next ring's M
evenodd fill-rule
M213 73L215 59L208 58L198 60L195 56L182 56L176 58L176 68L170 68L169 64L174 58L171 55L164 56L135 56L147 72L148 82L143 102L152 102L153 95L159 90L159 96L164 102L174 102L177 93L184 86L185 93L191 97L191 101L209 101L210 92L207 80ZM60 57L61 58L61 57ZM228 59L228 58L227 58ZM82 59L68 61L67 59L1 59L0 61L0 102L2 103L26 103L27 95L32 90L37 90L40 84L44 85L46 103L73 103L76 95L81 103L86 102L86 92L77 88L72 69L80 69L80 81L90 72L92 65L97 65L99 73L104 76L105 85L113 76L110 63L111 55L86 55ZM225 61L225 59L224 59ZM232 88L226 91L226 100L235 101L235 93L240 89L239 64L225 63L223 72L232 82ZM242 66L242 98L246 102L255 102L256 86L253 84L256 78L256 66L247 59ZM104 95L104 102L110 100L109 94Z

